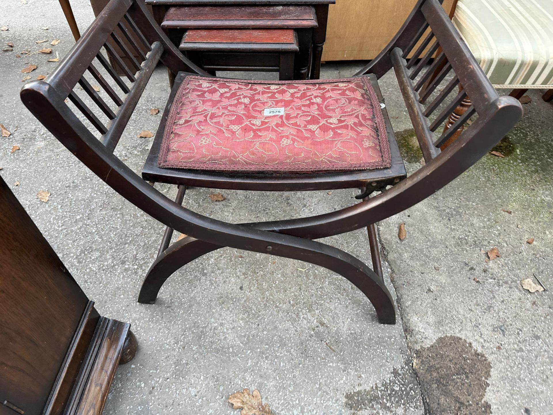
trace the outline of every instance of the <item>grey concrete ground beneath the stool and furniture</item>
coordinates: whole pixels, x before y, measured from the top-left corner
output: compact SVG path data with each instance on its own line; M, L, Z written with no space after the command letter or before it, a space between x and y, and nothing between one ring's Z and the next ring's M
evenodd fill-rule
M104 413L237 414L227 398L243 388L258 388L275 415L553 413L551 292L520 287L534 275L553 287L553 107L538 92L502 142L505 158L487 155L379 224L397 325L378 325L363 294L326 269L229 248L175 273L155 305L138 304L163 227L91 174L20 103L20 70L38 65L34 79L56 64L46 62L53 55L15 53L61 39L51 46L61 57L73 42L58 2L7 3L0 2L0 26L9 27L0 42L13 42L14 50L0 54L0 123L12 136L1 138L0 174L100 313L131 323L139 340L135 359L117 371ZM90 5L72 6L86 28ZM348 76L360 66L326 64L322 76ZM394 76L380 87L414 172L421 155ZM152 139L135 137L155 131L160 116L149 109L163 108L167 95L158 68L117 150L136 172ZM14 144L20 150L10 153ZM48 203L36 198L39 190L51 192ZM191 189L185 205L241 222L340 209L357 190L222 191L226 200L217 203L212 192ZM370 263L362 230L325 242ZM494 246L501 257L487 263L482 251Z

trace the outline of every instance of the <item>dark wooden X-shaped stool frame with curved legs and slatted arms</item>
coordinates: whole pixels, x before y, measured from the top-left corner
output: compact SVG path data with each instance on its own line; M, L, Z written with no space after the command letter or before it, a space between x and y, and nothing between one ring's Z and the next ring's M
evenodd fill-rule
M120 101L116 114L107 107L101 98L98 100L99 96L90 87L90 84L86 80L83 81L83 75L87 70L92 75L96 74L97 81L111 96L113 90L106 82L102 82L101 77L97 76L97 71L91 62L96 55L101 55L100 51L106 44L106 39L118 24L119 28L122 27L120 23L122 20L132 23L133 33L127 33L129 38L138 38L149 49L149 52L147 56L143 57L142 63L138 63L138 68L135 68L136 74L133 74L133 71L126 65L123 66L126 68L127 78L132 80L134 85L132 89L128 89L123 84L128 89L124 100L117 95L112 96L114 101ZM431 32L425 35L429 27ZM424 40L414 52L414 59L411 59L409 64L406 63L405 57L415 49L421 38ZM432 41L433 43L431 43ZM415 65L417 58L423 54L429 44L431 44L429 50L422 56L419 64ZM441 53L436 57L434 63L425 69L426 63L440 46ZM138 46L135 49L140 50ZM121 81L106 59L101 59L113 79ZM444 73L437 76L432 85L427 87L424 94L419 97L418 91L434 72L435 65L444 60L447 61L442 70ZM387 48L357 74L358 76L369 76L379 95L377 78L392 68L395 70L406 109L426 160L426 164L414 174L401 180L403 163L394 164L393 154L392 167L389 169L272 175L161 169L156 167L155 160L153 160L155 155L150 152L149 160L143 170L144 178L141 178L117 158L113 151L158 61L164 63L175 74L175 87L169 102L176 92L176 86L187 74L207 76L205 71L197 68L175 48L147 12L142 2L139 0L111 0L53 74L47 80L29 82L21 91L21 98L25 106L98 177L131 203L165 224L168 227L166 235L170 234L172 230L189 235L167 248L165 245L169 238L164 238L163 252L153 264L140 290L139 301L143 303L154 302L162 284L175 269L207 252L228 246L284 258L294 258L341 274L361 289L371 300L380 323L394 324L396 321L395 307L392 295L384 284L379 266L380 258L374 224L408 209L450 183L476 163L479 158L487 154L522 115L522 108L517 100L513 97L498 96L442 9L440 1L419 0ZM422 71L423 69L425 71ZM451 80L447 80L446 75L448 74L450 77L453 75ZM447 84L444 90L425 107L425 101L431 97L432 91L437 89L441 81L445 81ZM108 127L104 126L90 108L76 96L73 88L77 83L111 118ZM463 92L449 101L449 94L457 84L463 85ZM465 123L472 115L477 114L478 118L463 131L455 142L441 152L441 144L450 138L450 133L453 130L450 129L438 138L434 137L434 131L442 125L452 109L465 96L464 94L471 97L473 107L458 120L458 123ZM71 111L71 108L64 102L67 97L103 134L102 141L99 141ZM379 98L382 100L382 96ZM444 110L437 115L434 121L430 122L427 117L430 117L439 107L444 107ZM387 118L385 108L383 112ZM166 110L162 124L166 122L167 116L168 111ZM393 131L389 125L388 129L389 137L393 137ZM158 129L158 135L163 134L163 131L160 130L162 128ZM395 141L393 142L395 143ZM391 138L390 143L392 143ZM144 180L148 179L148 176L155 177L164 183L180 185L176 202L148 184ZM390 184L395 185L387 188L387 185ZM363 199L358 204L327 214L301 219L235 225L211 219L182 207L180 202L187 185L264 191L359 187L364 191L358 196ZM382 192L369 199L369 194L374 190ZM319 238L343 234L363 227L368 227L374 271L348 253L315 241Z

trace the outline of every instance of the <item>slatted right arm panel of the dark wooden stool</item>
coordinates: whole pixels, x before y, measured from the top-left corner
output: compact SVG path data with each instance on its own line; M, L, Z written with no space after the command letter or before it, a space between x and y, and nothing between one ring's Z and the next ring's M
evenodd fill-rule
M426 23L404 50L392 49L390 60L428 162L498 95L440 2L426 0L420 10Z

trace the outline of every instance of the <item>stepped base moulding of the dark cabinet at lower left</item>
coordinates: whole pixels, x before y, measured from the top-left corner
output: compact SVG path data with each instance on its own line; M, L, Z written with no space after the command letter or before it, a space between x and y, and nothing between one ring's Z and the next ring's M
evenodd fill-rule
M88 304L43 415L102 413L130 327Z

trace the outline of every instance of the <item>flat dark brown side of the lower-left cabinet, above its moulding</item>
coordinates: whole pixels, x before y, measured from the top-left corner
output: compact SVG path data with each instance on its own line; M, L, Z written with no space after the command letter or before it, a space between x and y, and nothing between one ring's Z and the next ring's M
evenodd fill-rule
M87 304L0 179L0 414L43 411Z

